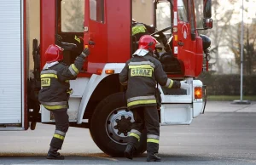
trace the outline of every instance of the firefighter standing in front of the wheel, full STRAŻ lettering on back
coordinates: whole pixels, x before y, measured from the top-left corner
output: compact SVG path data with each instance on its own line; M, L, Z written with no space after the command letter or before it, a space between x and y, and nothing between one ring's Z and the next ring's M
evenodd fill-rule
M137 142L147 129L147 162L160 162L156 155L159 151L160 123L156 106L156 83L167 88L189 88L189 84L175 81L167 77L159 60L154 58L154 48L158 42L150 35L139 40L139 48L125 63L119 74L119 82L126 86L128 110L133 111L134 120L131 125L125 157L132 159Z

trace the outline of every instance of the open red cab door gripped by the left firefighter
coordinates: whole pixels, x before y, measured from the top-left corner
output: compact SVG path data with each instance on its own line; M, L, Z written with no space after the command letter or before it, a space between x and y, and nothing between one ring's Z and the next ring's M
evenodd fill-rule
M105 0L85 0L84 48L90 48L87 72L97 73L108 60Z

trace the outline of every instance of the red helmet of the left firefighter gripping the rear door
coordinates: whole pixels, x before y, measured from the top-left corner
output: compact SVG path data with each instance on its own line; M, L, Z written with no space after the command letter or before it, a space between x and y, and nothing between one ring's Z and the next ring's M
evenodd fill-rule
M63 48L58 45L51 44L47 48L44 56L47 63L63 60Z

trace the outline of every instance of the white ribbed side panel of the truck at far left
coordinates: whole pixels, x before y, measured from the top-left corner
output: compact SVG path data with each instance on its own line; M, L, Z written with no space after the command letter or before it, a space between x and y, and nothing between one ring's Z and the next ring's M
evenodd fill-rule
M23 1L0 1L0 124L24 125L23 16Z

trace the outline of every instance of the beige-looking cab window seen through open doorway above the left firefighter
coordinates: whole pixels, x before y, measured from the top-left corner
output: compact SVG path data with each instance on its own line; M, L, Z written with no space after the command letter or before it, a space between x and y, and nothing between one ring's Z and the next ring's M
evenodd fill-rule
M84 0L61 1L61 31L84 32Z

